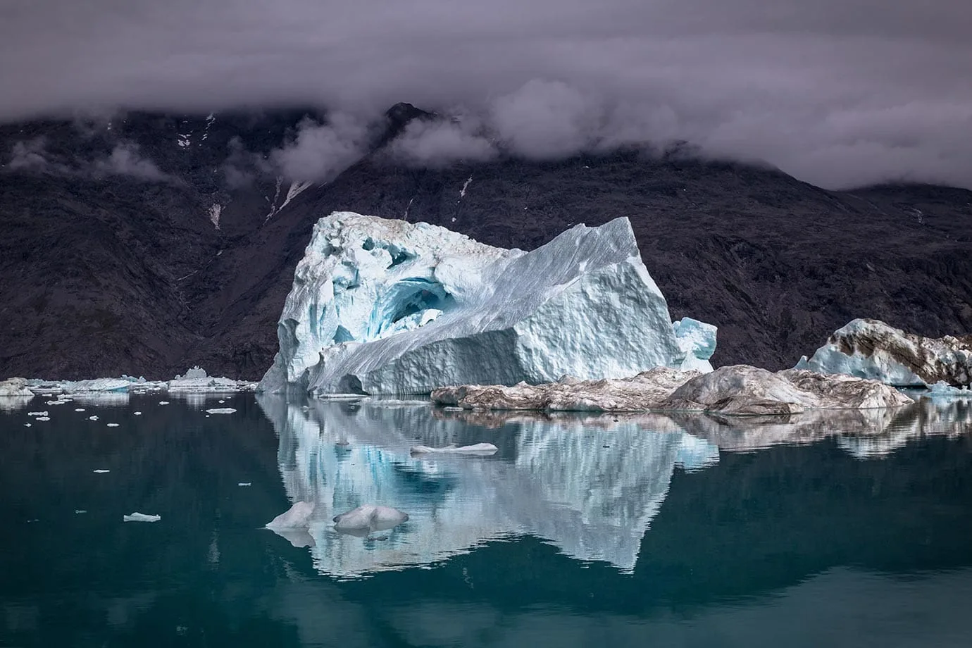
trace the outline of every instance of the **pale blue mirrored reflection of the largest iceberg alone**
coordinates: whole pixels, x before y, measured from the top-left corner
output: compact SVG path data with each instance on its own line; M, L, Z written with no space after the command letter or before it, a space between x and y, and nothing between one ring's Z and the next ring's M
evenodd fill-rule
M631 570L677 464L699 469L718 449L675 426L608 419L524 419L503 430L412 403L291 401L258 395L280 436L287 495L314 502L307 524L315 567L354 577L441 561L483 542L531 533L581 561ZM417 443L490 441L494 457L412 456ZM338 533L331 518L364 503L409 516L381 535ZM290 540L291 538L288 537Z

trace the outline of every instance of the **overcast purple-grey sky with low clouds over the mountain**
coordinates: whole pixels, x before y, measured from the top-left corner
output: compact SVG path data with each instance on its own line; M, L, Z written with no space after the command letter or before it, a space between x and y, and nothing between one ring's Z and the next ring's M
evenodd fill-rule
M972 2L0 0L0 120L399 101L467 116L409 133L419 162L680 139L972 188Z

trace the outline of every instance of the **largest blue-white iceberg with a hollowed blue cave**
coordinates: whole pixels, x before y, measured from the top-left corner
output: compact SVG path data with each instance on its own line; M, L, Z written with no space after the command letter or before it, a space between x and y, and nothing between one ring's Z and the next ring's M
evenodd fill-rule
M314 227L278 337L263 392L428 393L711 369L715 327L672 323L627 219L525 253L338 212Z

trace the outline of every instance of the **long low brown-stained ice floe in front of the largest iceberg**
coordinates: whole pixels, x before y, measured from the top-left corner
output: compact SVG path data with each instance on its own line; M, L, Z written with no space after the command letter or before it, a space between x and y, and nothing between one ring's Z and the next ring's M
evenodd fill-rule
M633 378L464 385L432 393L436 404L465 409L556 411L707 411L792 414L807 409L899 407L912 400L878 381L787 369L773 373L745 364L710 373L659 367Z

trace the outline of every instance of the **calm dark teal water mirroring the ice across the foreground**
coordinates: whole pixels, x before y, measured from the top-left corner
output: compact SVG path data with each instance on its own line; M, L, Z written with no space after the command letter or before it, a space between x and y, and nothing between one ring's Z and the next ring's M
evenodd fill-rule
M970 645L967 401L734 421L160 399L0 403L0 646ZM480 441L500 451L408 452ZM297 500L308 529L261 529ZM333 531L363 503L410 519Z

